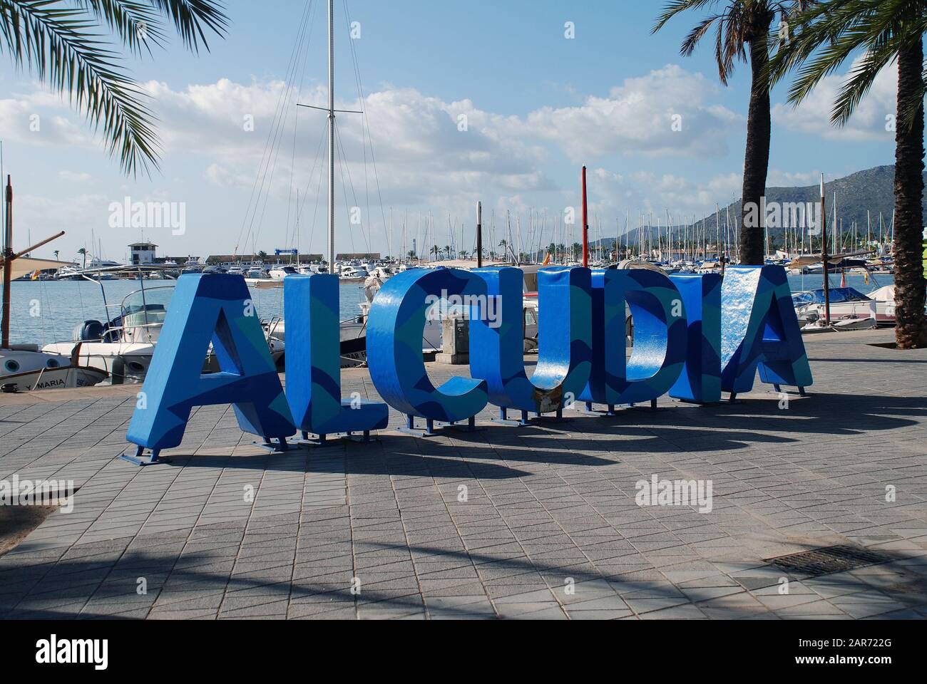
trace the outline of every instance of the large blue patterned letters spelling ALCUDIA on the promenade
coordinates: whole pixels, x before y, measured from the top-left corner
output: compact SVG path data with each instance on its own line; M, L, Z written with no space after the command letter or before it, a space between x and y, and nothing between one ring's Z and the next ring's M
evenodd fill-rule
M714 274L541 269L538 363L523 354L522 272L515 268L413 269L380 289L367 320L367 361L382 401L343 398L338 281L284 282L286 394L257 311L238 275L183 275L126 435L157 453L181 443L197 406L231 403L241 429L270 442L297 431L369 432L387 405L429 422L472 421L488 403L502 412L561 412L573 401L615 405L671 397L711 403L771 385L805 387L811 369L779 266ZM435 386L422 336L436 303L470 321L470 376ZM634 322L628 358L625 308ZM202 374L211 348L220 365ZM143 400L144 399L144 400Z

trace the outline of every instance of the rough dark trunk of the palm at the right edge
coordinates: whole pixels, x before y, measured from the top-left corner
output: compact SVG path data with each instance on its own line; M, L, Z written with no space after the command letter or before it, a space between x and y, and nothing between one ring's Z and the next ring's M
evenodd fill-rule
M924 193L924 106L921 89L923 44L898 51L898 100L895 128L895 342L898 348L927 347L924 273L921 256ZM917 108L912 126L906 112Z

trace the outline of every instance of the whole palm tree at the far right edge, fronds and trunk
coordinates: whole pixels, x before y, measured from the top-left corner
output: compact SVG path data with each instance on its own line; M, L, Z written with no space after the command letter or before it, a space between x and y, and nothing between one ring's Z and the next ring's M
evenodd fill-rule
M922 265L924 105L923 34L927 7L905 0L828 0L797 17L798 31L769 64L772 82L801 64L789 91L798 104L820 80L862 51L833 105L844 125L876 76L897 62L895 112L895 342L927 347Z

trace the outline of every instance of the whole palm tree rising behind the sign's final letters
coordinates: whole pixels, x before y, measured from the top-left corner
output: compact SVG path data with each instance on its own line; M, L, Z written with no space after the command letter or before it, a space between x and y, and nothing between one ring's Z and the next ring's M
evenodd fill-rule
M719 0L671 0L657 19L653 32L662 29L669 19L687 9L714 8ZM717 76L721 83L728 84L738 59L748 61L746 48L750 48L750 108L747 113L747 144L743 156L743 193L741 201L743 230L741 231L740 260L745 264L762 264L763 226L766 217L759 217L758 225L753 223L754 214L750 207L760 206L760 197L766 194L766 176L769 168L769 141L771 123L769 108L769 29L778 15L786 22L795 12L813 5L814 0L725 0L725 6L718 13L712 13L699 22L682 41L679 52L690 57L695 46L712 26L717 27L715 37L715 61ZM746 221L743 221L746 219Z

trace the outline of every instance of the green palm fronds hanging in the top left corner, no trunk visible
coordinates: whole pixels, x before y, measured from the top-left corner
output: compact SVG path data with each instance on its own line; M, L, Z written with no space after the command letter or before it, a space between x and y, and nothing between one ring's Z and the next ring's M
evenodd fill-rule
M122 171L158 168L159 143L146 95L122 67L119 47L151 54L170 22L191 52L209 50L206 33L224 35L220 0L0 0L0 52L29 70L103 131Z

